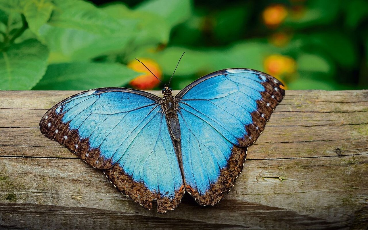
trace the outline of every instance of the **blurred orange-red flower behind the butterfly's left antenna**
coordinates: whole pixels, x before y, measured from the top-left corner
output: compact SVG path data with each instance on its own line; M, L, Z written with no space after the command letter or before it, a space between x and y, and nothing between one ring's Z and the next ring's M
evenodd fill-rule
M159 65L152 59L139 59L144 63L155 75L156 77L162 79L162 72ZM137 60L132 60L128 63L128 68L135 70L137 72L142 72L144 74L132 79L129 84L136 89L140 90L151 90L160 84L159 79L157 79L146 67L144 67Z

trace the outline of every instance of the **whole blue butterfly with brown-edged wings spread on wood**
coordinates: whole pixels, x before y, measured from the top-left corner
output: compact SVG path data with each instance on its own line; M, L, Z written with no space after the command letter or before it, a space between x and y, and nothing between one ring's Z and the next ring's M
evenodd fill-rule
M284 96L260 71L205 75L176 96L99 88L53 106L40 121L47 138L103 170L119 192L145 209L174 210L188 192L215 205L234 186L247 155Z

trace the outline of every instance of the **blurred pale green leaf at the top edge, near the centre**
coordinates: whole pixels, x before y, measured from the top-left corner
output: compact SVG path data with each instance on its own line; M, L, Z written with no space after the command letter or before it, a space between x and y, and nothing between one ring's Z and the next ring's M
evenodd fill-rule
M144 1L136 10L160 15L170 27L184 22L192 14L191 0Z

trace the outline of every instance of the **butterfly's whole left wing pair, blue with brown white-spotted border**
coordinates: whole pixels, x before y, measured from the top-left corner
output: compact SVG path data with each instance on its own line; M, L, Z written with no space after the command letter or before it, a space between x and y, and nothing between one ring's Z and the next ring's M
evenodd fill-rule
M79 93L40 121L46 137L104 170L117 189L146 209L176 208L183 179L159 97L125 88Z

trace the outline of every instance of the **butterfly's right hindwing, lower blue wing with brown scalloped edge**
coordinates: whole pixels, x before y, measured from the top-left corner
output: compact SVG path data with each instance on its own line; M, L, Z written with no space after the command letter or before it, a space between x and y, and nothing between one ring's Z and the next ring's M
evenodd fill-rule
M206 121L184 109L179 122L185 189L198 204L215 205L233 186L246 149L234 146Z

